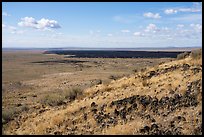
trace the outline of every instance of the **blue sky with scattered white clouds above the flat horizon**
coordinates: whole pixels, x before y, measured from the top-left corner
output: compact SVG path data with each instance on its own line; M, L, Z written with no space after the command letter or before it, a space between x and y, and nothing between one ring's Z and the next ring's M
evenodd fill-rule
M201 2L2 2L2 47L201 47Z

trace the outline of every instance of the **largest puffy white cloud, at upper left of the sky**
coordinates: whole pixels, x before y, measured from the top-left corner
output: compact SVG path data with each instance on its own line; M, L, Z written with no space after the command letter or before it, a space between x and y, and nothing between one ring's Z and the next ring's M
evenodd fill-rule
M19 22L18 25L21 27L31 27L40 30L60 28L60 25L55 20L49 20L45 18L42 18L41 20L35 20L33 17L21 18L21 22Z

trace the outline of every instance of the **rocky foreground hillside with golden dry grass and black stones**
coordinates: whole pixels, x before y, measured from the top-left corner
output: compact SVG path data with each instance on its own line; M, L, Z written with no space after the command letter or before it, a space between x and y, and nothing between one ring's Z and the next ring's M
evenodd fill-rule
M202 58L93 86L62 106L36 107L4 134L202 134Z

